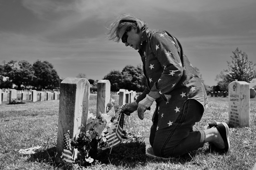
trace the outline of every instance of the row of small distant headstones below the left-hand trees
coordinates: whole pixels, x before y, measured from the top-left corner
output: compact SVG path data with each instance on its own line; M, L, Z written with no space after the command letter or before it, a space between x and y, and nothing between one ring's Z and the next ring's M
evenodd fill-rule
M7 102L7 93L6 92L2 92L2 89L0 89L0 104L2 104L2 102ZM29 100L31 100L32 102L36 102L37 101L37 93L39 93L39 101L44 101L44 92L37 92L36 90L32 90L31 93L30 92L21 92L21 100L22 101L26 101L27 99L27 94L29 95ZM53 92L53 100L57 100L57 94L58 92L55 91ZM17 90L16 89L10 89L10 93L9 93L9 103L12 103L13 99L17 99ZM51 92L46 92L46 100L51 100Z

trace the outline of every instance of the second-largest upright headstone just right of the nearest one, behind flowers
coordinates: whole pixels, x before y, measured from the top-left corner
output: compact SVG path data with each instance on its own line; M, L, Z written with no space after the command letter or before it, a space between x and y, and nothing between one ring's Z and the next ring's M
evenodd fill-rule
M107 104L110 100L110 81L100 80L97 83L97 117L107 112Z

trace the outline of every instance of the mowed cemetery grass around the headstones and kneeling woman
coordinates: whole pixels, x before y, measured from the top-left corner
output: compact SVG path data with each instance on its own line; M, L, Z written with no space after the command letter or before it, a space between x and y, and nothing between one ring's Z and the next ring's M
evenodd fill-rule
M112 96L118 103L118 95ZM97 96L90 95L90 109L96 111ZM228 123L228 98L209 97L211 115L204 115L199 126L212 122ZM251 99L251 126L230 128L231 151L219 154L209 145L171 158L169 161L145 156L144 138L123 139L124 143L99 153L99 161L92 166L75 169L252 169L256 162L256 98ZM155 110L146 111L141 121L137 113L125 116L124 130L129 134L148 136ZM59 100L0 105L0 169L65 169L55 162ZM20 149L41 146L41 152L19 156ZM140 152L139 152L140 151ZM143 151L143 152L141 152ZM134 153L134 154L133 154ZM104 157L105 156L105 157Z

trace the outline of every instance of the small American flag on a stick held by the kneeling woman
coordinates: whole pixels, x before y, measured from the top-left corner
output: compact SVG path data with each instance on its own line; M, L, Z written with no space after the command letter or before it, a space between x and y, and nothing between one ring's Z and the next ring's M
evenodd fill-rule
M115 124L115 129L110 134L106 135L106 138L108 138L107 142L108 145L111 147L116 147L119 144L121 144L122 141L122 133L123 133L123 126L124 126L124 113L121 113L119 116L118 121Z

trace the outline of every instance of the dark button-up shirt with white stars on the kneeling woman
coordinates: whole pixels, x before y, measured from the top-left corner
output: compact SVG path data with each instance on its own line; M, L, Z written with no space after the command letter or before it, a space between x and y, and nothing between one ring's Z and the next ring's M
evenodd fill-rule
M141 49L138 51L146 76L146 88L136 102L140 102L150 91L158 91L155 116L158 116L157 130L176 122L186 100L195 99L204 106L204 113L210 113L204 85L195 69L184 55L178 39L164 30L142 32Z

